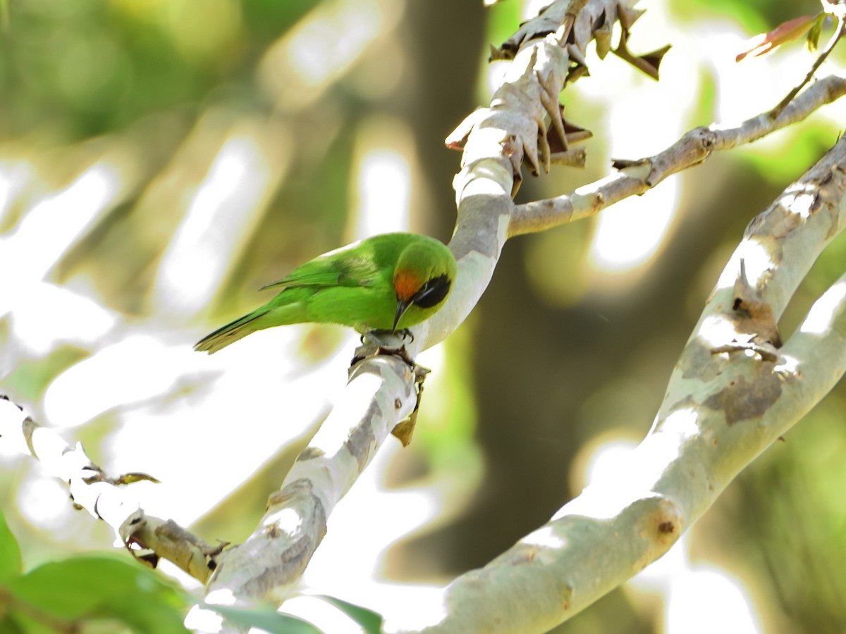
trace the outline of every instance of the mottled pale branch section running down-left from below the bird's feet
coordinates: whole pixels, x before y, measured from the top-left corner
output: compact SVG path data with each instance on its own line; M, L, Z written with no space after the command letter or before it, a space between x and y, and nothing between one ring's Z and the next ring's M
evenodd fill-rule
M208 603L248 605L255 598L287 596L338 500L414 409L414 381L409 364L393 355L371 353L350 369L338 404L271 495L258 527L217 557Z

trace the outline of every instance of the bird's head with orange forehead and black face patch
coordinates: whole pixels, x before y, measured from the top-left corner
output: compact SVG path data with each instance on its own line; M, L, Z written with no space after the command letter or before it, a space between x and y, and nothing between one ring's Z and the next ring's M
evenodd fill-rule
M393 271L393 289L397 293L393 330L403 318L407 328L440 309L452 289L456 271L453 253L434 238L403 249Z

